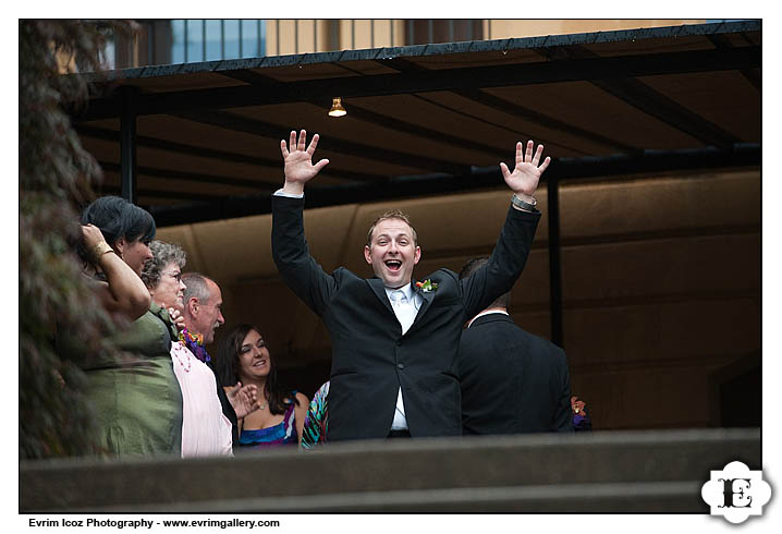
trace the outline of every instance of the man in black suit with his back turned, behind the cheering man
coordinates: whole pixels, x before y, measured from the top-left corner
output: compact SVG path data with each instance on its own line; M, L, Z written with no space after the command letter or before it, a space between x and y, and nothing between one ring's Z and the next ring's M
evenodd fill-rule
M489 262L468 262L459 277ZM573 432L567 360L562 349L517 327L510 291L473 317L462 332L459 373L464 434Z

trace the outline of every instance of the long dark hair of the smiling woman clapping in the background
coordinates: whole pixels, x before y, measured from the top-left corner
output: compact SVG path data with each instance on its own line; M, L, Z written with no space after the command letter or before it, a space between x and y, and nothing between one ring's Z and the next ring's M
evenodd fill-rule
M242 350L242 341L251 330L260 333L260 329L253 325L237 325L225 337L221 338L217 344L215 371L222 380L223 386L233 386L239 381L239 354ZM269 351L269 376L266 377L264 391L269 398L269 412L280 415L285 413L288 409L284 402L285 398L290 397L296 405L298 405L298 400L295 395L288 395L282 391L277 383L277 366L271 351Z

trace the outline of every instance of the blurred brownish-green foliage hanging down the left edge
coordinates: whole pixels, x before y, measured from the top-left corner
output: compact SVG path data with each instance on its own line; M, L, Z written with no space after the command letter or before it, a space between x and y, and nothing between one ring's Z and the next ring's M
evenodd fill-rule
M77 206L94 197L100 170L63 106L84 101L84 76L62 75L58 58L78 72L99 70L106 24L20 21L20 458L87 454L94 417L86 376L54 350L57 329L84 343L84 359L111 350L111 319L82 275L73 244Z

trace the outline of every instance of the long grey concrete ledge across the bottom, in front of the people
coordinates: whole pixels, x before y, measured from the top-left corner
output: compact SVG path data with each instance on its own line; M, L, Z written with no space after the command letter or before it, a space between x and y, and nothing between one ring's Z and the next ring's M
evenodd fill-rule
M20 511L689 511L759 429L333 444L234 459L23 462Z

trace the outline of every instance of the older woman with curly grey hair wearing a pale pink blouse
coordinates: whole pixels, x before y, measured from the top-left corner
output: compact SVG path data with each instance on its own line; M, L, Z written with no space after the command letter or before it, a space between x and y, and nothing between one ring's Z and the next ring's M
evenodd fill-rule
M185 253L161 241L152 241L149 248L152 258L144 266L142 280L152 302L167 310L181 329ZM182 389L182 458L232 456L231 422L222 413L215 374L179 339L171 343L171 362Z

